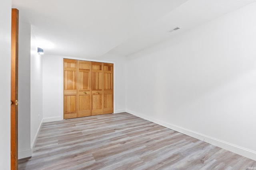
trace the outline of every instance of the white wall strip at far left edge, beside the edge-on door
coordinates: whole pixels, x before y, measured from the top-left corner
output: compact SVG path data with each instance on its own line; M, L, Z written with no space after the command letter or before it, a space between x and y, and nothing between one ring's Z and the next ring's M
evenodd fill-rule
M11 77L11 16L12 1L0 5L0 169L10 169L10 77Z

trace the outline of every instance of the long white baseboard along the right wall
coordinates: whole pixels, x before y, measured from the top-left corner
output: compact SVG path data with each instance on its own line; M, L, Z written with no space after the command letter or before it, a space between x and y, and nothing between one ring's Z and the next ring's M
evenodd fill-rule
M250 158L252 160L256 160L256 151L254 151L254 150L246 149L244 147L240 147L240 146L234 145L232 143L228 143L228 142L225 142L225 141L222 141L222 140L219 140L219 139L216 139L216 138L213 138L213 137L210 137L210 136L207 136L207 135L195 132L195 131L191 131L189 129L186 129L186 128L183 128L183 127L180 127L180 126L177 126L177 125L172 125L172 124L164 122L164 121L159 121L157 119L153 119L151 117L148 117L144 114L136 113L136 112L134 112L132 110L129 110L129 109L126 109L126 112L130 113L132 115L135 115L137 117L141 117L142 119L146 119L148 121L156 123L158 125L167 127L168 129L172 129L174 131L183 133L183 134L188 135L190 137L194 137L196 139L199 139L201 141L210 143L210 144L215 145L217 147L229 150L229 151L234 152L236 154L240 154L240 155L245 156L247 158Z

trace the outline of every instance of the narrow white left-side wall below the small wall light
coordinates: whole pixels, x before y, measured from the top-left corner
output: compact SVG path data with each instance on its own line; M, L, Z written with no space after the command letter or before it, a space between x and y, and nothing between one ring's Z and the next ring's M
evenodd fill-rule
M37 54L36 44L32 27L30 52L30 143L32 149L43 119L42 56Z

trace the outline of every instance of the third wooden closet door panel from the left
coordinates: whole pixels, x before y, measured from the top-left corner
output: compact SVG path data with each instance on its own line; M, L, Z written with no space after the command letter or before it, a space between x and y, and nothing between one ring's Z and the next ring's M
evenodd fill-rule
M91 62L92 71L92 115L103 114L103 69L102 63Z

